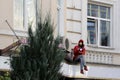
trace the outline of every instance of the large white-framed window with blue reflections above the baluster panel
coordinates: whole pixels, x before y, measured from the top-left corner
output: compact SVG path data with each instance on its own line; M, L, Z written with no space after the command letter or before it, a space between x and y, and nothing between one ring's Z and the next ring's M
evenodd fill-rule
M88 3L87 43L111 46L111 7Z

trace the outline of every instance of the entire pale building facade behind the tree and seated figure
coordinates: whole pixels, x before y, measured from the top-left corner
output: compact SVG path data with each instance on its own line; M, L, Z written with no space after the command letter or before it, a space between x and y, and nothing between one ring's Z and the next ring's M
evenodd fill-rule
M29 23L34 29L36 11L43 16L50 12L57 24L55 36L67 38L69 49L79 39L85 41L88 78L120 79L119 4L120 0L0 0L0 49L17 40L6 20L22 38ZM79 65L63 64L63 75L86 78L79 73Z

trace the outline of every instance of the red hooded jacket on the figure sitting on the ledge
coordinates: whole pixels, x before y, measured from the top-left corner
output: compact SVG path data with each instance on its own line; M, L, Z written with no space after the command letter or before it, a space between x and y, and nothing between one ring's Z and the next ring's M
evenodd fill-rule
M80 43L80 42L82 42L83 43L83 40L80 40L79 42L78 42L78 44ZM84 46L82 47L82 48L80 48L80 46L75 46L74 47L74 57L73 57L73 60L75 59L75 58L77 58L77 56L79 56L79 55L85 55L85 48L84 48Z

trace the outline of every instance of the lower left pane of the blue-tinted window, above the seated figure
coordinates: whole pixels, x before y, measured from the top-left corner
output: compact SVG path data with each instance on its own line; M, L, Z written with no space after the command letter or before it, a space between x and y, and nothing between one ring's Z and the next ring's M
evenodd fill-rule
M96 26L95 21L88 21L87 22L87 29L88 29L88 44L96 44Z

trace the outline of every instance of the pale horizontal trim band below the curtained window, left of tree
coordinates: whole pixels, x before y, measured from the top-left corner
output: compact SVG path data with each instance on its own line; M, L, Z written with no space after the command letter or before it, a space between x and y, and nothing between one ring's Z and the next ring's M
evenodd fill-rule
M17 36L28 37L27 31L14 30ZM15 36L10 30L0 30L0 35Z

